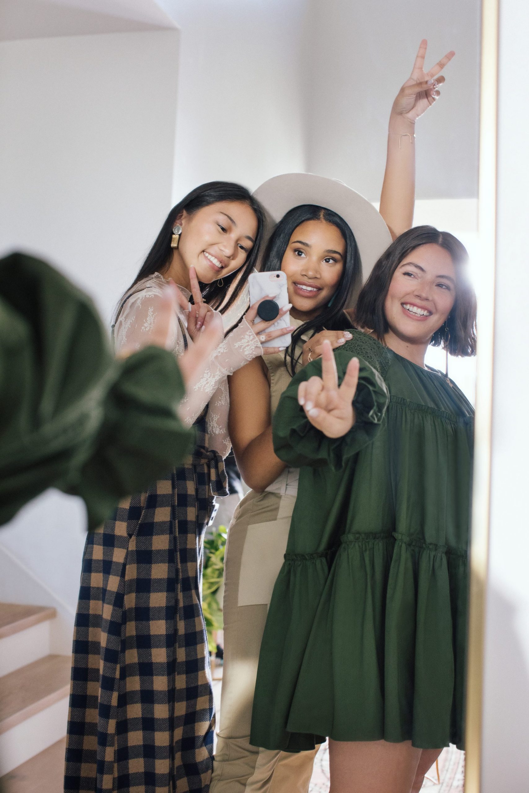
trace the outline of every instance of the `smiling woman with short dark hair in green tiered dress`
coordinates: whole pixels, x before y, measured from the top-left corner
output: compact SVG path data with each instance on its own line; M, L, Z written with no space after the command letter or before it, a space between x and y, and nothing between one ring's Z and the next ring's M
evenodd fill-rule
M446 232L404 232L351 341L334 357L325 341L275 412L274 451L300 476L251 743L329 737L332 793L415 793L463 747L473 408L424 356L475 353L466 262Z

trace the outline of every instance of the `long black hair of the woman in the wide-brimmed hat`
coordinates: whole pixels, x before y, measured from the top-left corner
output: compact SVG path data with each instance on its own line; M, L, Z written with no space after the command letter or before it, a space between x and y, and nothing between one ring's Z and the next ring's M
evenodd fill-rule
M326 329L328 331L344 331L351 328L351 320L344 311L355 287L362 280L362 262L358 252L355 235L349 225L332 209L324 209L313 204L301 204L289 212L279 221L274 228L272 236L266 246L261 270L281 270L281 262L293 232L302 223L308 220L322 220L335 226L343 236L345 242L345 256L343 259L342 275L336 291L328 305L322 306L318 316L307 320L292 334L292 343L285 351L285 365L290 374L294 374L301 353L296 355L296 345L305 333L312 331L311 338L316 333Z

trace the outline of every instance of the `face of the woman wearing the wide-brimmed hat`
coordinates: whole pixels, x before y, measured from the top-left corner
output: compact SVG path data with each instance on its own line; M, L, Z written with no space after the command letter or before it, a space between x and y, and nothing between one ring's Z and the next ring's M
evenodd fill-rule
M325 220L306 220L294 229L281 262L293 317L311 320L328 304L342 276L345 255L341 232Z

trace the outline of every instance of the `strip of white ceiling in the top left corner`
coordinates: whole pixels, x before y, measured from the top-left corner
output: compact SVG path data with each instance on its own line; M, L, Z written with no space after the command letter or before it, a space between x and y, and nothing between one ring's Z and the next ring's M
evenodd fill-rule
M155 0L0 0L0 40L174 28Z

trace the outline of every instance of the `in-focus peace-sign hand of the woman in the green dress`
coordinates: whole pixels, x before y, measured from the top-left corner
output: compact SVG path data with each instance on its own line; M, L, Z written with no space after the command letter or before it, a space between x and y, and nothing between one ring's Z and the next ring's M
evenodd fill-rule
M335 357L325 339L321 354L321 377L311 377L297 389L297 401L310 423L328 438L341 438L355 423L353 398L358 385L358 358L351 358L342 385L338 385Z

